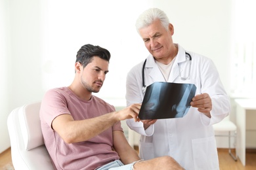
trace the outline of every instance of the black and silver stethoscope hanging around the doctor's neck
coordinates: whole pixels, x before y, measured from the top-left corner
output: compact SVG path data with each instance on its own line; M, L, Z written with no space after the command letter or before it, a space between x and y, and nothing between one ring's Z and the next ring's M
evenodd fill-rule
M192 58L188 52L185 52L185 54L186 54L185 69L182 70L181 65L179 64L179 77L181 78L181 80L188 80L190 78L190 69L191 69ZM144 78L145 65L146 65L146 59L142 66L142 92L143 93L146 92L146 85L145 85L145 78ZM186 69L187 65L188 65L188 69Z

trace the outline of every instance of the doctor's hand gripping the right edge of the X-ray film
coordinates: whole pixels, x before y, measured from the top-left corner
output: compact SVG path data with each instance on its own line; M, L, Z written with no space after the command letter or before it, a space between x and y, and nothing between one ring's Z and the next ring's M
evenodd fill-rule
M202 93L199 95L196 95L192 98L192 101L190 102L190 105L192 107L198 108L199 112L202 112L205 114L205 116L208 116L211 118L211 109L212 109L212 103L211 103L211 97L208 93Z

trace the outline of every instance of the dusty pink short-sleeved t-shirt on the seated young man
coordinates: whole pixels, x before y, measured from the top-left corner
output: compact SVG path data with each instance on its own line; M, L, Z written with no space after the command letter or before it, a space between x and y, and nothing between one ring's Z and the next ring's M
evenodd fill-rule
M83 120L114 110L114 106L94 95L89 101L80 99L67 87L54 88L45 93L40 110L41 128L56 169L95 169L119 160L117 152L112 149L112 131L123 131L120 122L88 141L72 144L65 143L51 128L54 118L60 114L71 114L74 120Z

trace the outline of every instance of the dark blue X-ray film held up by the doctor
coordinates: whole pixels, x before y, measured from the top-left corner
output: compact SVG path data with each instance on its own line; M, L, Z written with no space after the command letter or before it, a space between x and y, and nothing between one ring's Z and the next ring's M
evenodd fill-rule
M146 88L139 118L182 118L188 112L195 93L194 84L154 82Z

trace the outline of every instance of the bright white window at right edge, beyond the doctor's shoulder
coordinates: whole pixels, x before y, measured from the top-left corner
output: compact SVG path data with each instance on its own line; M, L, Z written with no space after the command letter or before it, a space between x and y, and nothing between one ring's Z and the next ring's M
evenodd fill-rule
M236 0L232 37L231 89L239 97L256 94L256 1Z

